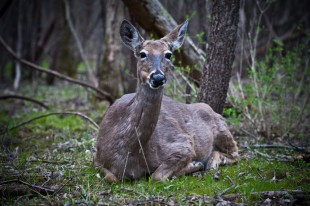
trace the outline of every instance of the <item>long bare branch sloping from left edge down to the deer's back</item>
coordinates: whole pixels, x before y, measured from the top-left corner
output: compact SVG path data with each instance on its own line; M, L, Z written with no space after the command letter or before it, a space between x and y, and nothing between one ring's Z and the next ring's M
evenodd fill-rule
M44 73L47 73L47 74L51 74L59 79L63 79L63 80L66 80L68 82L71 82L71 83L74 83L74 84L78 84L78 85L81 85L83 87L86 87L86 88L90 88L92 89L93 91L97 92L98 94L100 94L103 98L105 98L106 100L109 101L110 104L112 104L114 102L114 99L112 98L112 96L105 92L105 91L102 91L101 89L93 86L93 85L90 85L86 82L83 82L83 81L80 81L80 80L77 80L77 79L74 79L74 78L71 78L71 77L68 77L66 75L63 75L59 72L56 72L54 70L50 70L50 69L47 69L47 68L44 68L44 67L40 67L36 64L33 64L27 60L24 60L24 59L21 59L21 58L18 58L18 56L16 55L16 53L8 46L8 44L4 41L4 39L2 38L2 36L0 36L0 43L1 45L7 50L7 52L10 53L10 55L17 61L19 61L20 63L34 69L34 70L37 70L37 71L40 71L40 72L44 72Z

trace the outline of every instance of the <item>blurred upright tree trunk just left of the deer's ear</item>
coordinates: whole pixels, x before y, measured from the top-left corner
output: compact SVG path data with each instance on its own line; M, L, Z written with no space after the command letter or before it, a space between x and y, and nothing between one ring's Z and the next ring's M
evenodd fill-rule
M124 4L121 0L108 0L104 7L105 51L98 71L99 88L116 98L122 93L119 25L124 19Z

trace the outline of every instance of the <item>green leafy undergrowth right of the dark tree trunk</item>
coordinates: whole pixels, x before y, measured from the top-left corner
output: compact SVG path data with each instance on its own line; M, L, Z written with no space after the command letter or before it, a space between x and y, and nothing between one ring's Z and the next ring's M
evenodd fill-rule
M243 127L254 136L306 138L310 131L309 50L305 45L286 50L275 42L262 60L249 67L247 81L237 75L229 100L241 111Z

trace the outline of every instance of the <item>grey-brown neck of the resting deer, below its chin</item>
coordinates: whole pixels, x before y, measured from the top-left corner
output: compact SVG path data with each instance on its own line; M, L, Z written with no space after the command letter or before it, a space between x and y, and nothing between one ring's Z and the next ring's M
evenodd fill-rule
M151 89L149 85L141 84L131 104L131 112L134 114L134 136L138 141L134 141L145 145L151 138L155 126L158 121L161 101L163 97L163 87L159 89Z

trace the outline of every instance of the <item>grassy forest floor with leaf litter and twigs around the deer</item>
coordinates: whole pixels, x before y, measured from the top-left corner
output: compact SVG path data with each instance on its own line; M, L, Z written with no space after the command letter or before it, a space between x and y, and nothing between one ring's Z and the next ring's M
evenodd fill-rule
M309 153L257 148L250 137L238 135L238 164L163 182L145 177L108 184L92 165L97 129L80 116L51 115L10 130L51 112L80 112L99 124L107 104L66 83L26 84L19 93L49 109L19 99L0 101L1 205L310 204Z

